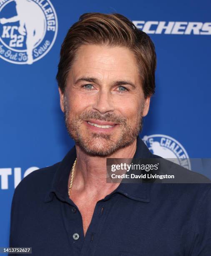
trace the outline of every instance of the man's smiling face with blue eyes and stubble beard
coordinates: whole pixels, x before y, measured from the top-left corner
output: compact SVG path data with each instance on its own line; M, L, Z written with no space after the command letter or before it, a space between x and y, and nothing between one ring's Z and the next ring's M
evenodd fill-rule
M120 46L80 46L65 94L60 92L68 133L87 154L97 156L133 143L149 102L135 57Z

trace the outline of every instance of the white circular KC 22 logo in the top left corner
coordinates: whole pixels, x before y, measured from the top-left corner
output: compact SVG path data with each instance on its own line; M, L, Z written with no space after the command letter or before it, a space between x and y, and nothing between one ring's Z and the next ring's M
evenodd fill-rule
M0 58L33 64L50 51L58 20L49 0L0 1Z

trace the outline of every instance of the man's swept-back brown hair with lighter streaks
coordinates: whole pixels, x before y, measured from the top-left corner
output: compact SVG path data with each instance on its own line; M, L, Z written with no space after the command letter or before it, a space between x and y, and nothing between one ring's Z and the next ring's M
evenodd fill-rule
M145 98L155 92L156 52L151 38L125 16L112 13L84 13L68 30L60 51L56 79L65 92L68 72L78 48L85 44L123 46L134 54Z

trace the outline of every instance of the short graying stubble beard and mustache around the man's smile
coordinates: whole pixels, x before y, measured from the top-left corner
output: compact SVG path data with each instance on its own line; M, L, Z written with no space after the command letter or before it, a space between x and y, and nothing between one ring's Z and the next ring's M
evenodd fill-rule
M82 114L80 114L77 117L73 117L70 119L69 116L69 109L67 106L66 99L64 100L64 120L65 125L68 131L69 136L75 141L75 143L83 150L86 154L89 154L91 156L110 156L115 151L117 151L120 148L127 147L131 145L139 135L139 133L142 131L143 128L143 105L144 102L141 105L141 110L138 113L138 119L134 125L129 125L126 122L126 118L115 116L111 113L107 113L105 115L100 115L98 112L93 112L92 110L85 111ZM110 121L114 123L118 123L120 125L121 134L119 136L118 141L112 140L112 134L106 134L106 133L95 133L92 132L91 138L83 138L82 134L80 133L80 125L85 120L94 119L94 120L104 120L104 121ZM93 147L92 141L94 138L100 138L103 139L108 145L103 147L98 147L97 143Z

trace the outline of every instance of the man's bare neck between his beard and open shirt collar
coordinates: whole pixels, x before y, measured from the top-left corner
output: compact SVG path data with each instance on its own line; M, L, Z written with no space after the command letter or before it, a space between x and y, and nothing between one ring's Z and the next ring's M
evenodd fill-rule
M118 149L109 157L90 156L76 144L77 163L73 182L74 191L93 197L96 197L95 195L104 197L116 189L119 183L106 183L106 158L133 158L136 152L136 141L125 148Z

